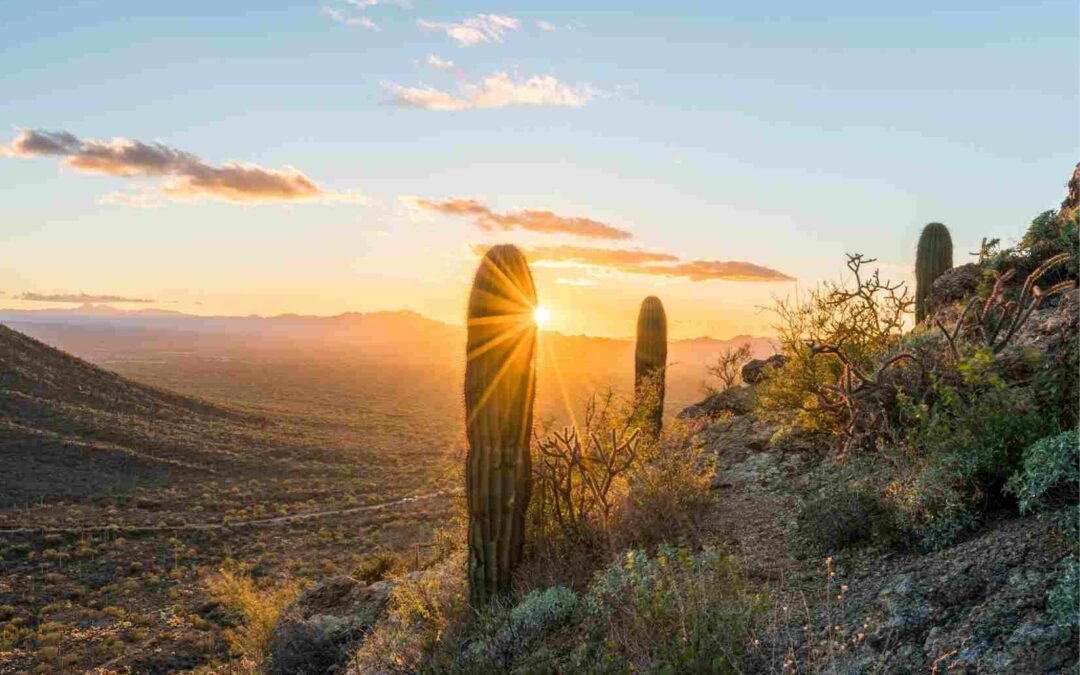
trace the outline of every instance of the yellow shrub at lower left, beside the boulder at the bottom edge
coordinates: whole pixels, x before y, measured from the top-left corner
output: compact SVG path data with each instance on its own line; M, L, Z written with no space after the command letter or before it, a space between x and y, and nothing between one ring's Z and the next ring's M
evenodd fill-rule
M227 611L241 618L240 625L225 631L229 647L255 660L266 657L278 617L300 595L292 581L260 586L243 568L232 565L222 568L207 585Z

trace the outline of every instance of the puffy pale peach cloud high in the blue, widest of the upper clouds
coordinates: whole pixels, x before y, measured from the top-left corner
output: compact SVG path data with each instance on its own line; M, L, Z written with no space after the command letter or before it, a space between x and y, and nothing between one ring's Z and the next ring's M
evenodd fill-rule
M426 110L470 110L505 108L507 106L566 106L580 108L595 97L588 85L570 86L552 76L534 76L515 80L510 73L497 72L480 83L465 82L458 93L430 86L404 86L393 82L384 86L403 106Z

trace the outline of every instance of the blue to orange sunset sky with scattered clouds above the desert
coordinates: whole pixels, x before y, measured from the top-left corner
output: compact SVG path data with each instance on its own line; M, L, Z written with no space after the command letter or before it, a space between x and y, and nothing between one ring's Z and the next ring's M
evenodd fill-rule
M0 3L0 307L409 309L522 246L552 327L765 335L843 254L1017 239L1078 152L1078 4ZM129 301L131 300L131 301Z

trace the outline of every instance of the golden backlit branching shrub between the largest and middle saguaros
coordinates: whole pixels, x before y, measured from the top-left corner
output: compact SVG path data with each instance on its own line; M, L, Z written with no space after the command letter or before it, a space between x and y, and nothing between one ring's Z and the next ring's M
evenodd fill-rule
M534 444L534 558L588 575L583 561L692 529L708 498L711 465L677 420L659 437L638 433L638 421L632 401L608 392L588 402L580 431L568 428ZM543 585L566 582L552 570L543 579Z

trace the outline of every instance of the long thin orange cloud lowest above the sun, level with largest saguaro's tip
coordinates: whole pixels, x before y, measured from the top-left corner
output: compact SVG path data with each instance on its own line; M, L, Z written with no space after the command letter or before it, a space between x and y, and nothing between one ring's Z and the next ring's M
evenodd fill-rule
M489 248L477 244L473 254L484 255ZM590 270L612 270L626 274L684 278L690 281L779 282L795 281L774 269L739 260L680 261L670 253L636 248L596 248L590 246L532 246L525 248L525 257L538 267L571 267ZM585 280L588 281L588 280ZM559 282L569 283L569 282ZM586 284L573 284L586 285Z

